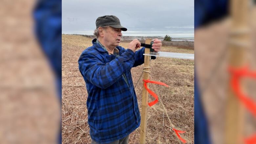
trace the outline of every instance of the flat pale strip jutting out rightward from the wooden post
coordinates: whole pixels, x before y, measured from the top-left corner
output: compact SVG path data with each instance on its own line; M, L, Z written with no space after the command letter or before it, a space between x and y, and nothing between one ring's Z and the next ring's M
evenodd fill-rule
M194 54L190 53L176 53L176 52L150 52L144 53L143 55L160 56L160 57L172 57L172 58L182 58L182 59L194 59Z

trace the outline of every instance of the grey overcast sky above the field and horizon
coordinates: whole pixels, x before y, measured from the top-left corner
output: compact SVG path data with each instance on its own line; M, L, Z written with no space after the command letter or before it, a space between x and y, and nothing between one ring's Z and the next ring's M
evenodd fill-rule
M62 0L62 33L93 34L103 15L117 16L125 36L194 37L194 0Z

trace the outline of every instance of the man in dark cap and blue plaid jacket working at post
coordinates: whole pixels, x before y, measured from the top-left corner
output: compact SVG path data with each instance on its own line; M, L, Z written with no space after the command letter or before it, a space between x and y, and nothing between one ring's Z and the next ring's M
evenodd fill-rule
M94 32L97 38L78 60L88 92L86 104L93 144L128 143L129 134L140 125L131 68L144 63L145 48L136 51L140 47L137 39L126 50L118 46L121 31L127 29L116 16L98 17ZM161 45L155 39L152 48L158 52Z

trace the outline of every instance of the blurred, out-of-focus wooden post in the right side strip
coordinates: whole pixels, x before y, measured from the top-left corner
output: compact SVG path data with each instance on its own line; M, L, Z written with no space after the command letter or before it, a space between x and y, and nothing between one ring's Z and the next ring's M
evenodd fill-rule
M232 19L229 65L241 68L246 64L245 48L248 40L247 17L248 0L231 0L230 13ZM244 125L244 108L228 83L226 121L225 121L225 144L241 144ZM243 88L243 84L240 85Z

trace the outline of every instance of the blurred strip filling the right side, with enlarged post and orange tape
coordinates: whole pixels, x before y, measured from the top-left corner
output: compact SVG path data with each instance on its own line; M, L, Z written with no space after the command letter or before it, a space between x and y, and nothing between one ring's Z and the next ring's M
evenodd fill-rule
M255 17L252 0L195 0L195 143L256 143L256 77L229 71L256 75Z

